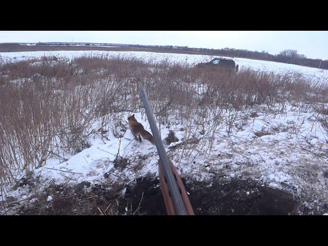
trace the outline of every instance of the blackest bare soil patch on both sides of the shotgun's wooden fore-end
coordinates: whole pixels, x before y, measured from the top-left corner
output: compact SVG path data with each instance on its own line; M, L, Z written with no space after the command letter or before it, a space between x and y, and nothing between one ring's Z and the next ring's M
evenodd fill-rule
M188 182L186 190L196 215L288 215L297 214L293 195L251 180L222 183ZM142 199L141 199L142 197ZM137 179L124 199L139 214L165 215L159 180ZM121 210L121 212L123 212Z

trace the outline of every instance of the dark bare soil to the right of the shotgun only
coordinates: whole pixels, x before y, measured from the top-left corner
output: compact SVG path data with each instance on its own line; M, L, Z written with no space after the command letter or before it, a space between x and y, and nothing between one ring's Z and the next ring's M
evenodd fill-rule
M191 183L190 201L202 215L288 215L297 213L289 193L261 186L251 180ZM187 189L188 190L188 189Z

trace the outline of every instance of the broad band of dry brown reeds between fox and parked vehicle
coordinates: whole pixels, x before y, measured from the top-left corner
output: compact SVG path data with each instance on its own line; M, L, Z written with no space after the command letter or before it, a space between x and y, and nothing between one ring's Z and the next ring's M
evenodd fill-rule
M211 139L223 122L227 132L242 117L256 117L264 105L284 113L284 105L325 105L328 88L301 74L277 75L240 70L192 68L162 60L154 64L125 57L79 57L70 61L42 57L0 67L0 183L12 183L22 171L42 167L48 158L90 147L91 134L122 137L124 112L144 107L145 87L159 128L178 121L186 126L180 155L210 153ZM228 112L228 114L227 114ZM326 115L326 114L324 114ZM97 123L99 127L94 128ZM196 129L188 126L197 125ZM222 124L221 124L222 125ZM201 137L197 138L199 132ZM171 134L168 143L177 139ZM207 142L207 145L204 143ZM188 146L188 148L187 148ZM122 160L117 165L123 165ZM4 190L3 190L4 191Z

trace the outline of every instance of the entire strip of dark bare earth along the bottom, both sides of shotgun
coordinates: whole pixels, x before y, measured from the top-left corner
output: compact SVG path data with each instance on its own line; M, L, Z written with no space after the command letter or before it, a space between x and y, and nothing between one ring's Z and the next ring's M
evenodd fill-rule
M298 203L289 193L262 186L253 180L196 182L184 179L196 215L289 215ZM48 195L52 200L48 201ZM18 214L47 215L166 215L159 180L137 178L126 186L52 185L47 194L21 208Z

